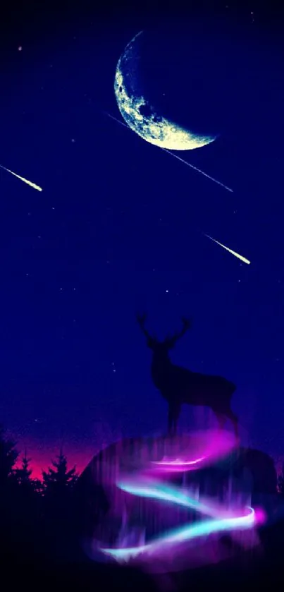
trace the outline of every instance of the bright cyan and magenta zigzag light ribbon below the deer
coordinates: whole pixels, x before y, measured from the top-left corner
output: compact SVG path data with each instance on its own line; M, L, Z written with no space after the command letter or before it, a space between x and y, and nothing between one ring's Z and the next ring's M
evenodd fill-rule
M203 450L203 455L196 459L189 460L188 456L185 460L180 458L166 459L164 457L162 461L150 462L139 473L121 475L116 481L116 486L125 493L179 505L199 512L206 518L198 523L172 528L171 531L156 536L143 545L127 548L102 548L100 546L100 552L118 562L128 562L141 555L143 559L152 560L152 555L161 554L159 556L162 557L163 553L169 548L176 548L177 545L186 541L222 531L242 531L263 523L266 517L261 509L255 510L247 506L242 509L232 510L212 502L207 497L197 500L192 497L190 491L184 488L180 490L180 488L161 479L161 470L163 474L171 474L177 470L180 472L197 470L200 465L209 464L209 460L212 461L212 459L226 456L233 447L235 445L230 440L226 440L223 435L218 442L214 440L213 449L208 449L208 452L206 450L207 454Z

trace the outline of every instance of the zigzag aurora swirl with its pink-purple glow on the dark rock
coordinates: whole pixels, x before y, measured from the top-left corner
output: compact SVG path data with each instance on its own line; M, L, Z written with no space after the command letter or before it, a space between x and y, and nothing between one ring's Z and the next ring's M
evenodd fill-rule
M183 452L175 451L173 443L171 454L163 457L161 461L150 461L141 466L139 471L124 471L116 478L116 487L131 496L144 497L161 504L168 503L198 512L203 518L198 522L171 528L147 543L140 538L137 544L129 545L129 537L125 536L123 544L116 548L98 544L97 550L104 557L128 564L139 562L153 565L153 562L162 562L163 565L167 564L167 567L171 564L173 568L175 558L178 558L181 565L180 557L185 556L183 551L188 551L188 545L192 540L207 540L209 535L214 536L216 533L253 531L255 526L264 523L265 515L261 509L249 506L240 509L237 505L228 509L221 504L213 503L209 497L196 499L186 488L177 488L165 481L166 475L197 471L213 464L213 461L228 457L236 446L235 439L230 434L220 432L197 433L190 437L189 443ZM164 572L167 567L163 567ZM183 566L178 569L183 569Z

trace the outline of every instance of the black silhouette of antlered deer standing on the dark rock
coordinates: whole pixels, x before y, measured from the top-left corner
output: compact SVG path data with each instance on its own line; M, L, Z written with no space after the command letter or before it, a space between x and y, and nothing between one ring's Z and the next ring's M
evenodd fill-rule
M168 403L168 433L176 434L181 406L188 404L209 407L214 412L221 429L229 419L233 423L235 437L238 440L238 420L230 406L236 389L233 382L222 376L192 372L171 362L169 351L190 328L190 321L182 318L183 328L180 332L175 332L159 342L145 328L146 320L146 314L137 314L137 321L147 338L147 346L153 352L152 380Z

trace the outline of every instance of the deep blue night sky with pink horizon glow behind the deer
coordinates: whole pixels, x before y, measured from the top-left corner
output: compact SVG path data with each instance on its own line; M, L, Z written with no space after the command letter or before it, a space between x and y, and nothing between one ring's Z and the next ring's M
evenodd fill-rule
M273 8L260 15L247 3L236 14L230 3L221 5L228 35L214 52L216 14L199 14L196 26L196 14L175 14L179 42L171 41L175 52L168 43L163 53L158 8L140 7L135 16L126 6L96 13L79 4L80 13L26 6L1 23L0 164L43 188L39 193L0 171L1 422L19 449L27 447L35 474L61 444L82 469L102 443L161 432L166 403L152 385L151 352L135 313L146 310L147 327L160 337L177 330L185 315L192 329L173 360L233 380L243 442L278 463L284 457L281 20ZM171 11L163 14L165 28L171 18ZM210 33L200 25L205 20ZM149 96L180 123L221 134L178 155L233 193L103 114L122 121L113 93L116 64L147 27L152 38L156 31L143 73ZM210 422L209 413L183 410L184 428Z

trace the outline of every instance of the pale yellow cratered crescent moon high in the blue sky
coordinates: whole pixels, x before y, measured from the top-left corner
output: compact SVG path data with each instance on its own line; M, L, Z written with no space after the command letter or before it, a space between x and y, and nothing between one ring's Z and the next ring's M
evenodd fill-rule
M203 136L178 126L156 113L139 88L140 36L125 47L116 66L114 92L118 109L132 131L150 144L166 150L194 150L214 142L216 136Z

